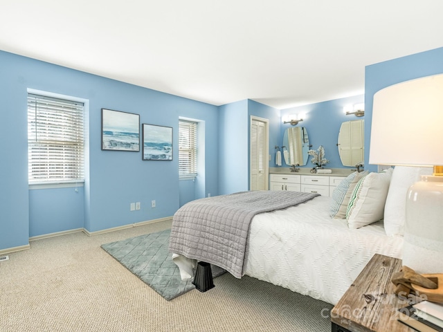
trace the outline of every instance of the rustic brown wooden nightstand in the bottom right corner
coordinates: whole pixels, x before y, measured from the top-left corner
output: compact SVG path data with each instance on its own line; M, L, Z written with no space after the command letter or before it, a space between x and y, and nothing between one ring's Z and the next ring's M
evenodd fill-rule
M401 259L374 255L332 308L332 331L415 331L397 321L397 309L408 306L407 299L395 295L390 282L400 268Z

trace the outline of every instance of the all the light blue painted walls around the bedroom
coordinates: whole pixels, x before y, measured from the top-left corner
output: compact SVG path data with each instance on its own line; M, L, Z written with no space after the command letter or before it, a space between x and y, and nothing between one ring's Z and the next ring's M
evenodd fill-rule
M410 80L416 77L443 73L443 48L430 50L417 55L409 55L388 62L374 64L365 68L365 159L368 160L370 140L370 116L372 97L383 87ZM141 122L173 127L174 149L177 147L179 116L197 118L205 121L205 174L198 186L184 189L183 195L193 191L196 197L211 193L227 194L248 188L248 118L254 115L273 118L273 110L265 105L248 100L215 107L213 105L187 100L159 91L144 89L105 77L98 77L69 68L39 62L0 51L0 91L3 107L0 110L0 179L3 197L0 200L0 250L28 244L30 236L77 228L82 219L83 227L93 232L118 225L170 216L180 205L177 172L177 150L172 162L147 162L141 160L141 152L116 152L100 150L100 109L107 107L141 114ZM87 183L83 192L74 195L73 188L66 190L28 190L27 180L27 128L26 128L26 89L72 95L90 101L89 136L87 159L91 169L87 169ZM358 96L357 96L358 97ZM343 98L347 99L347 98ZM327 131L336 127L347 117L334 118L334 112L341 113L343 100L331 100L309 105L312 117L302 122L305 127L316 126L309 130L314 148L323 144L327 158L329 147L325 141L331 140ZM347 103L347 101L346 101ZM306 107L302 107L305 108ZM298 108L297 108L298 109ZM261 113L264 111L264 113ZM290 113L286 109L281 113ZM307 112L308 113L308 112ZM274 114L275 115L275 114ZM327 120L329 119L329 120ZM334 120L332 120L334 119ZM337 120L337 123L332 121ZM271 147L279 145L283 129L278 119L278 143L274 143L275 124L271 120ZM317 127L318 126L318 127ZM309 129L308 127L308 129ZM332 140L335 145L336 138ZM337 153L338 156L338 153ZM270 166L272 167L273 158ZM332 163L329 164L332 166ZM367 163L367 162L366 162ZM368 165L366 165L368 166ZM370 165L370 170L376 167ZM308 164L307 167L310 167ZM338 166L337 166L338 167ZM368 167L367 167L368 168ZM78 197L84 195L83 216ZM191 195L191 194L190 194ZM60 202L58 200L61 200ZM150 208L150 201L156 199L157 208ZM46 202L48 201L48 202ZM129 203L142 202L142 210L129 212ZM47 203L45 206L41 203ZM56 204L52 204L55 202ZM59 202L59 203L57 203ZM66 203L68 202L68 203ZM57 205L57 206L55 206ZM60 205L64 205L63 207ZM51 207L51 208L48 208ZM57 221L64 221L66 227L60 228ZM50 217L45 223L43 219ZM40 224L39 224L40 223ZM32 230L30 230L30 224Z

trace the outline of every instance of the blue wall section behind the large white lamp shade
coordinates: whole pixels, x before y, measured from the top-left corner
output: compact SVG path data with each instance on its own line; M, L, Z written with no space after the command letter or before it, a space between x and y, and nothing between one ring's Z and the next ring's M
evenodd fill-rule
M369 161L374 94L392 84L440 73L443 73L443 47L365 67L365 141L368 142L365 146L365 160ZM386 148L395 147L390 147L389 142L386 142ZM377 171L377 165L368 165L366 168L372 172Z

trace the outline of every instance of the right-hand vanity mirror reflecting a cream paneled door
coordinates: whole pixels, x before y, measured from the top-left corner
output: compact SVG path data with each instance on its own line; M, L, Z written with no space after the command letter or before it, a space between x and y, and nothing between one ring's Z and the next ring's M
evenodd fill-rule
M343 166L364 163L365 120L343 122L338 133L338 154Z

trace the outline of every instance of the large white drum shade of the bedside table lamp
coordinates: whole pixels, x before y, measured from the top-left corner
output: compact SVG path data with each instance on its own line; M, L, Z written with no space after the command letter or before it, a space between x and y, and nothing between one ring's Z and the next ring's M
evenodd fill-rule
M374 94L369 163L443 165L443 74Z

